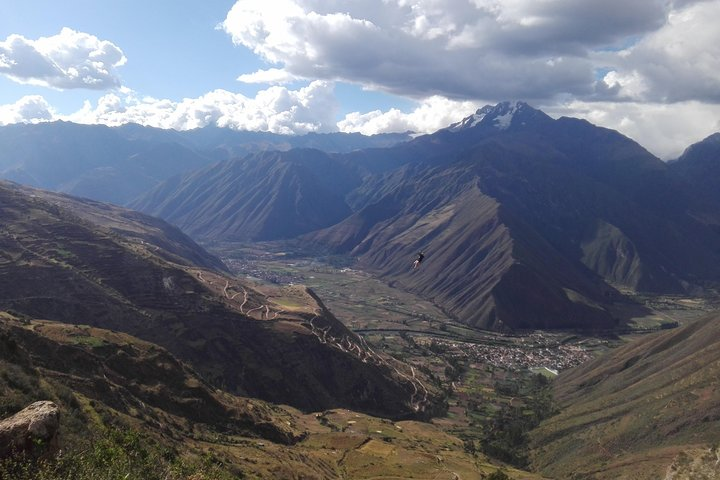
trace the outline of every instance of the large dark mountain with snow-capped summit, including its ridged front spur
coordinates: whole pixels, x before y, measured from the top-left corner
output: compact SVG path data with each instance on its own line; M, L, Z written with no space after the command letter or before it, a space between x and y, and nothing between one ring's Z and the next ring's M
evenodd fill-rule
M615 287L720 278L686 185L617 132L500 104L417 142L446 153L366 178L355 213L306 239L486 328L610 328Z

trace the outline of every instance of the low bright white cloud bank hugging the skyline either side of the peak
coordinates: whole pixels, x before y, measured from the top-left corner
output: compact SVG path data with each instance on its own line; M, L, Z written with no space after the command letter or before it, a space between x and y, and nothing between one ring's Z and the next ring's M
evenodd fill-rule
M313 82L300 90L273 87L255 98L215 90L181 102L140 98L123 89L107 94L95 105L86 102L71 115L59 115L40 96L24 97L11 105L0 105L0 125L21 122L67 120L78 123L122 125L138 123L157 128L187 130L208 125L238 130L271 131L282 134L308 132L376 133L414 131L432 133L471 115L492 102L453 101L434 96L410 112L398 109L353 112L335 123L336 100L332 84ZM534 105L553 117L584 118L633 138L662 159L676 158L708 135L720 131L720 105L696 101L672 105L637 102L584 102Z

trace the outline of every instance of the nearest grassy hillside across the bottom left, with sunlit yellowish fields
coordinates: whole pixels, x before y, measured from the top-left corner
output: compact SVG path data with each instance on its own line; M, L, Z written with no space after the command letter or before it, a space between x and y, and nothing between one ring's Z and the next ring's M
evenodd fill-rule
M427 423L237 397L156 344L0 311L0 418L38 399L60 408L62 455L0 457L2 478L479 480L498 469Z

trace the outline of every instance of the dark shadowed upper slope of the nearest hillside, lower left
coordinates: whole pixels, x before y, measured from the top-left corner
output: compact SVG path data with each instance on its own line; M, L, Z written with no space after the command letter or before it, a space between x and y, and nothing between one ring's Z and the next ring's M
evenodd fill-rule
M10 365L21 367L125 415L146 416L156 425L190 421L194 428L281 443L301 436L288 428L288 412L221 393L155 344L120 332L20 320L7 313L0 316L0 331L5 372Z

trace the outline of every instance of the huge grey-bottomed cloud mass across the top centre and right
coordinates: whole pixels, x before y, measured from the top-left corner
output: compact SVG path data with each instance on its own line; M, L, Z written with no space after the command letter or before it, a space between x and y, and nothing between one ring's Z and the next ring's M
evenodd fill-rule
M602 99L671 90L675 65L696 90L720 71L717 1L239 0L222 28L278 68L273 75L342 80L426 98ZM697 11L694 21L686 18ZM704 13L703 13L704 12ZM694 46L674 47L688 29ZM706 59L684 53L712 40ZM639 43L638 43L639 41ZM670 46L668 46L670 45ZM681 50L678 52L677 50ZM658 63L659 61L659 63ZM680 62L680 63L678 63ZM641 63L644 67L636 67ZM653 71L660 65L659 71ZM632 67L632 68L631 68ZM614 76L599 79L600 69ZM266 71L246 74L261 79ZM634 89L634 90L633 90ZM700 92L698 94L701 94ZM657 95L660 95L658 93ZM682 96L678 96L682 99Z

